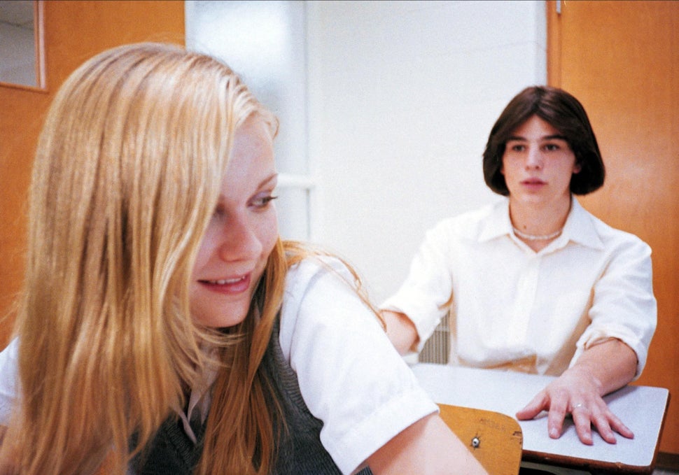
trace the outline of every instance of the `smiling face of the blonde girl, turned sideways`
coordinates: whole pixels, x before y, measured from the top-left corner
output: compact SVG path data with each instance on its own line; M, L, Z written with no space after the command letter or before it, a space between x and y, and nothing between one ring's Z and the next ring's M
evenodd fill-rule
M249 118L235 132L231 159L190 287L193 318L208 327L243 321L278 239L272 200L277 173L266 125Z

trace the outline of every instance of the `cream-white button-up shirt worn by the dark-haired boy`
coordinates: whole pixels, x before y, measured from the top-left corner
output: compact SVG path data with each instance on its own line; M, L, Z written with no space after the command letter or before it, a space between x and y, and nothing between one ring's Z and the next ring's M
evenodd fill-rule
M512 231L509 201L443 220L382 308L431 336L452 295L450 364L559 375L582 351L620 339L641 373L657 322L650 247L573 206L535 253Z

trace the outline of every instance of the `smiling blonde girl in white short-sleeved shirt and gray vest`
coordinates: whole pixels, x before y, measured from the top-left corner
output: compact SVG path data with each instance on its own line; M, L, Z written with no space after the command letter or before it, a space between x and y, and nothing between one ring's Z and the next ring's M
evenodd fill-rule
M483 473L351 271L279 239L276 128L171 45L66 80L0 355L3 473Z

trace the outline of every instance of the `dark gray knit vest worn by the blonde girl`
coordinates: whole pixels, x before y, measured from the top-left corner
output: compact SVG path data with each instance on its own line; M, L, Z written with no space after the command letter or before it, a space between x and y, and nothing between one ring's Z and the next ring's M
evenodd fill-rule
M304 404L297 375L283 357L277 320L262 368L269 374L283 409L283 427L274 427L274 434L280 429L281 436L276 444L272 475L341 474L321 444L323 422L312 416ZM194 432L198 440L195 445L184 432L181 421L176 416L168 418L144 454L132 461L130 472L137 475L192 474L200 460L205 426L194 427ZM368 468L359 472L359 475L370 474Z

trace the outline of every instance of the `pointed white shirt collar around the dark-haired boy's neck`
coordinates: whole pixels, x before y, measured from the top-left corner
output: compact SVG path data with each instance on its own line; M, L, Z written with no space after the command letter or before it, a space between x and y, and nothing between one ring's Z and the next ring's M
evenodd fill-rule
M603 249L603 242L596 233L594 218L582 208L582 205L571 198L570 211L566 224L563 225L563 232L557 241L567 243L573 241L582 246L594 249ZM484 226L479 233L479 242L491 241L500 236L510 236L512 234L512 221L509 217L509 199L505 198L498 201L491 208ZM556 241L555 241L556 242Z

